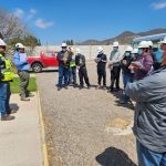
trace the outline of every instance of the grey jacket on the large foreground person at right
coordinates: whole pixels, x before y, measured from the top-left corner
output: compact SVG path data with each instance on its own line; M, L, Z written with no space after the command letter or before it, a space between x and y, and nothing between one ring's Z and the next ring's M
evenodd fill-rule
M136 102L134 134L148 149L166 152L166 68L141 81L128 83L125 92Z

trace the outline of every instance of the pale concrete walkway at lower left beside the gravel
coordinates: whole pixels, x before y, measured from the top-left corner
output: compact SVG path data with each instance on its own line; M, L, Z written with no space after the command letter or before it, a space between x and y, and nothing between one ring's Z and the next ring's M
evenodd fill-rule
M15 120L0 122L0 166L42 166L37 94L30 102L21 102L19 94L12 94L10 104L18 112Z

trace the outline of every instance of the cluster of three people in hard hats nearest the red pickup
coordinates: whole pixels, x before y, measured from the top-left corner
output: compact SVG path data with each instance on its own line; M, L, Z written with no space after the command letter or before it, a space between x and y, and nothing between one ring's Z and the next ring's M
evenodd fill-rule
M73 48L68 48L66 43L62 43L62 51L58 53L59 61L59 82L58 82L58 91L63 87L68 89L69 84L73 83L74 87L76 84L76 70L79 70L80 77L80 89L84 87L84 81L87 85L87 89L91 87L85 56L81 54L81 50L76 49L76 54L74 54Z

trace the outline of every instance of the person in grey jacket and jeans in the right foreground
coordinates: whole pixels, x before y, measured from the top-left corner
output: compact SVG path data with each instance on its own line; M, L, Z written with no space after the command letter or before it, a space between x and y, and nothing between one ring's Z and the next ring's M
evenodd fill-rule
M138 166L166 165L166 40L160 49L159 70L126 86L127 95L136 102L133 132Z

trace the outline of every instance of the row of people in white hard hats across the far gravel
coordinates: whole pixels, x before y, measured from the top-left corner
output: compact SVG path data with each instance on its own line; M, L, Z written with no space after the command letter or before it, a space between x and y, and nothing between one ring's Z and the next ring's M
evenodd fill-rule
M69 84L76 84L76 70L79 71L80 89L83 89L85 81L87 89L91 87L85 64L85 55L81 53L80 49L74 51L73 48L68 48L62 43L62 51L58 53L59 60L59 83L58 90L68 89ZM124 90L129 82L138 81L149 74L153 70L157 70L162 62L155 61L155 53L153 52L152 41L142 41L138 48L133 49L131 45L126 46L124 54L120 52L118 42L113 43L113 50L110 58L104 53L103 46L97 48L97 55L95 58L97 66L97 86L96 89L106 87L106 68L111 71L111 86L110 92L118 92L121 71L123 75ZM64 81L63 81L64 79ZM129 97L124 91L124 97L121 104L127 104Z

